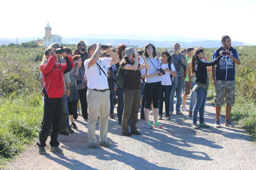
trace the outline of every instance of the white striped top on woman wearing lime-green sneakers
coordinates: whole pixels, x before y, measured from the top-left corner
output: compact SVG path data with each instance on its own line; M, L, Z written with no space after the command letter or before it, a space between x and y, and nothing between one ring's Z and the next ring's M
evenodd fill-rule
M157 59L157 58L150 59L149 57L146 57L146 59L149 63L149 69L147 69L148 75L154 74L157 71L156 69L160 69L160 65L159 65L160 59ZM142 64L145 64L144 60L143 60ZM145 72L146 72L146 69L141 70L142 75L145 74ZM161 76L145 78L146 83L155 83L155 82L159 82L159 81L161 81Z

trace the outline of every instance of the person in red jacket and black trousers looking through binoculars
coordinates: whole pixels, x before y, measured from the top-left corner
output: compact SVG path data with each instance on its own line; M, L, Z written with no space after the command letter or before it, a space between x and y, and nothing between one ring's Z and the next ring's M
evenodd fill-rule
M64 53L64 49L59 46L57 49L52 49L50 58L46 64L42 64L40 69L43 74L44 85L43 94L43 121L41 131L39 132L39 141L37 142L39 153L44 154L46 150L46 140L50 126L52 125L50 135L50 151L62 153L59 149L57 137L59 134L59 122L62 114L62 95L64 93L64 74L70 72L74 67L71 57L66 56L65 64L60 63L60 58Z

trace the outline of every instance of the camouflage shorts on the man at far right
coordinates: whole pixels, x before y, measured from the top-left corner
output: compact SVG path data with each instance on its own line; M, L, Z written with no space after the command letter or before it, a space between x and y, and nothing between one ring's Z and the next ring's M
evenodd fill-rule
M214 94L214 104L222 106L224 97L226 105L235 104L235 81L217 80Z

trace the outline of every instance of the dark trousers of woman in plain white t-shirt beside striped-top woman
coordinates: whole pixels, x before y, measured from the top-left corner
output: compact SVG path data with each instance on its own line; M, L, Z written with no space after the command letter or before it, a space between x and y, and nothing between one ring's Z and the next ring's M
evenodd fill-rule
M165 101L165 116L169 115L169 99L170 99L170 92L171 92L172 85L162 85L161 87L161 94L159 100L159 115L162 115L163 104Z

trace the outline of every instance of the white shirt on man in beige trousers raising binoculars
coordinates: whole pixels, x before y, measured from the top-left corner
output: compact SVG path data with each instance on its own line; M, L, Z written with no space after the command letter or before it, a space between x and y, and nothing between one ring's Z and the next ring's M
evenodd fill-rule
M100 70L97 64L91 66L88 68L88 63L90 59L85 60L85 72L87 75L88 80L88 88L89 89L108 89L108 83L107 83L107 77L101 70ZM107 67L110 65L112 58L100 58L100 60L97 61L97 63L101 66L101 68L104 70L104 72L107 75Z

